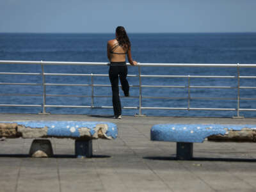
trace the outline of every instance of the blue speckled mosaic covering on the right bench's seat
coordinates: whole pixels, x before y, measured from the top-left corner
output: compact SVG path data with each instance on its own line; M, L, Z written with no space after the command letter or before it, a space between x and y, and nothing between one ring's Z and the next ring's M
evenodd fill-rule
M202 143L208 136L244 128L256 129L256 125L157 124L151 128L150 136L152 141Z

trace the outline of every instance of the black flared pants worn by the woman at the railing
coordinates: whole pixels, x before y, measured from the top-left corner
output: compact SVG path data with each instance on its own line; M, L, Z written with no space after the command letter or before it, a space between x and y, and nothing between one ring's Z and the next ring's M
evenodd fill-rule
M110 66L109 79L112 87L112 102L115 116L122 114L121 102L119 98L118 76L122 84L122 90L125 96L129 96L129 83L127 77L127 66Z

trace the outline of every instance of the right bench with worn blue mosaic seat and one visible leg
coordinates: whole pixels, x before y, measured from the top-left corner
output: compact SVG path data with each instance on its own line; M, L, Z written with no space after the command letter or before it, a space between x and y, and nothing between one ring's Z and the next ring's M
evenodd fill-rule
M209 141L256 142L256 125L157 124L150 131L152 141L177 142L177 159L193 158L193 143Z

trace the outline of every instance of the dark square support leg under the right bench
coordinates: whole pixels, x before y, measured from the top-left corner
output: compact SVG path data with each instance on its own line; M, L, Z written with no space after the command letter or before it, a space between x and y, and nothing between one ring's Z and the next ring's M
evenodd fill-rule
M193 158L193 143L177 142L177 159L189 160Z

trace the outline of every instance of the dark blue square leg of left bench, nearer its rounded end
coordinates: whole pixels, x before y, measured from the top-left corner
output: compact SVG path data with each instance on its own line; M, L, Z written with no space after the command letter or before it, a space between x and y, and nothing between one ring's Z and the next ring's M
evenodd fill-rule
M76 140L75 153L77 158L92 157L92 140Z

